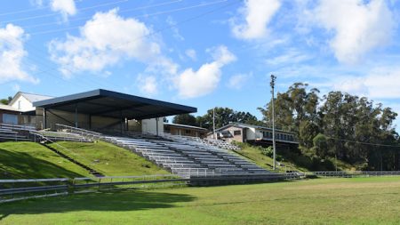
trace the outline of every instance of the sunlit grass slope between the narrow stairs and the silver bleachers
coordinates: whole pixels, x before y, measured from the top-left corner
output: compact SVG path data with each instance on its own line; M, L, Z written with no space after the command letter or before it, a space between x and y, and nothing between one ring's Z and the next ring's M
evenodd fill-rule
M104 141L95 143L60 141L58 143L69 151L60 149L54 144L51 146L108 176L168 173L145 158Z

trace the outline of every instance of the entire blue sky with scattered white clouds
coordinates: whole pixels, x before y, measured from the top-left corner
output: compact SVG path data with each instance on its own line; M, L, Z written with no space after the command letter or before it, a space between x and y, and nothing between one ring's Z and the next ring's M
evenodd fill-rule
M0 97L102 88L261 118L274 74L277 92L303 82L400 114L399 22L398 0L1 1Z

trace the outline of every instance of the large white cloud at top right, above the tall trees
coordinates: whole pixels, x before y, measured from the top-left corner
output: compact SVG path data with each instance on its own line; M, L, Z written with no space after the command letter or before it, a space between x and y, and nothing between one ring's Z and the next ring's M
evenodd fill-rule
M330 46L345 63L356 63L366 52L388 44L395 27L384 0L322 0L312 14L320 26L333 31Z

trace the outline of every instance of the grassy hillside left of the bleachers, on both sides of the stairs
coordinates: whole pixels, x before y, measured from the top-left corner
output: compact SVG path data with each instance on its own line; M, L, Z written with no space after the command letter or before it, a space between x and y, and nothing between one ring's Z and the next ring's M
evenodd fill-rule
M59 142L59 149L107 176L166 174L168 172L126 149L107 142ZM91 177L82 167L34 142L0 142L0 179Z

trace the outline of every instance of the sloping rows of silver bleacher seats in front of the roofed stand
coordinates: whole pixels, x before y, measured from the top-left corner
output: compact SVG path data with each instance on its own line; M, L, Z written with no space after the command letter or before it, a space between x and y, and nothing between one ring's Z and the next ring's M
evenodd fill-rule
M60 125L61 126L61 125ZM75 133L68 127L69 133ZM85 137L96 136L142 157L156 165L183 177L207 174L265 174L267 170L246 160L235 152L195 137L177 136L168 133L129 133L130 136L86 133L76 129L76 134ZM126 133L125 133L126 134Z

